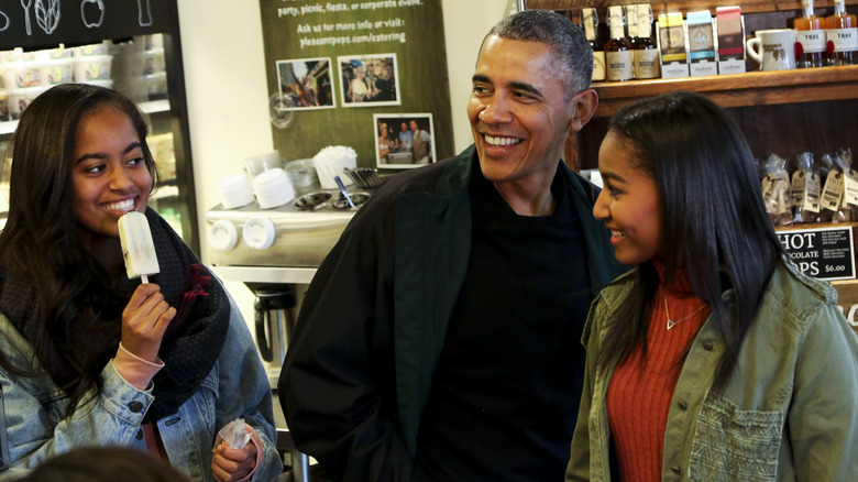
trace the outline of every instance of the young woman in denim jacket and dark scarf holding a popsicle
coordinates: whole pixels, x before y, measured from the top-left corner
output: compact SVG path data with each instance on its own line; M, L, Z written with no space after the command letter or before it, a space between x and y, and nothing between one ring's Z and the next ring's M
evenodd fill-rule
M101 87L56 86L26 109L11 150L2 461L25 471L77 447L119 445L194 480L276 479L264 369L223 286L146 207L156 172L134 103ZM152 283L127 275L118 228L127 211L148 220L158 267L143 270L160 273L129 271ZM237 418L250 435L241 449L218 432Z

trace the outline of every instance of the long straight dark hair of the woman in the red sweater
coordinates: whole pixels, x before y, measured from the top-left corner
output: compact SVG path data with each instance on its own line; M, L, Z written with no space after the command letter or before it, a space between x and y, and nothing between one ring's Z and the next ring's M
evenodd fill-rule
M659 195L659 252L664 283L688 271L698 298L710 305L726 350L714 388L728 380L760 295L783 248L769 222L754 155L736 123L707 98L667 94L618 110L609 132L627 141L637 167ZM625 360L637 344L646 349L651 303L659 276L651 262L640 266L639 288L620 308L603 342L603 360ZM733 288L729 304L722 298Z

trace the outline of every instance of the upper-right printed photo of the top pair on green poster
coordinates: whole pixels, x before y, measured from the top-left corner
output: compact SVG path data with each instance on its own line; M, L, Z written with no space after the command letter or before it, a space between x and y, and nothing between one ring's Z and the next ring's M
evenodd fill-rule
M337 57L343 107L398 106L396 54Z

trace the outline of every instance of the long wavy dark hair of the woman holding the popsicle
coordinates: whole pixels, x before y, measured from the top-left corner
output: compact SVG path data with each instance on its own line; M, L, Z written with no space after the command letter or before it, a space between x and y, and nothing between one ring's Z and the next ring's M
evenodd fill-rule
M80 328L97 325L114 292L108 273L78 238L72 182L78 124L105 106L131 120L154 186L155 162L136 106L116 90L85 84L58 85L33 100L12 135L11 155L3 166L10 190L9 217L0 233L0 274L3 281L32 287L32 313L26 320L18 320L18 326L33 346L36 360L31 366L12 366L0 353L0 365L30 376L41 364L68 394L68 416L91 388L100 392L99 373L107 363L103 353L94 355L88 340L81 340ZM100 328L116 339L111 343L119 341L116 325Z

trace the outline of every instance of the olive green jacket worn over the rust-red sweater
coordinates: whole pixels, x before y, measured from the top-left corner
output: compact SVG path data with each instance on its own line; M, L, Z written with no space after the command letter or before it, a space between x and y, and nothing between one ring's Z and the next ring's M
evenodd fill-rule
M615 365L596 360L607 327L623 322L616 311L637 276L637 270L620 276L591 307L566 481L610 480L606 394ZM662 480L858 480L858 337L836 302L831 285L779 263L721 393L710 387L724 344L706 320L673 392Z

